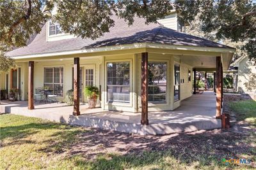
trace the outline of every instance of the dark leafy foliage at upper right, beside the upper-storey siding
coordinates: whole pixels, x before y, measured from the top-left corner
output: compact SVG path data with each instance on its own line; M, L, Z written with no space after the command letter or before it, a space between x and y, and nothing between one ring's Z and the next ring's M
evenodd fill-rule
M206 38L227 39L229 45L245 50L256 59L256 1L199 0L177 1L181 23L200 21L200 31ZM226 40L225 40L226 41Z

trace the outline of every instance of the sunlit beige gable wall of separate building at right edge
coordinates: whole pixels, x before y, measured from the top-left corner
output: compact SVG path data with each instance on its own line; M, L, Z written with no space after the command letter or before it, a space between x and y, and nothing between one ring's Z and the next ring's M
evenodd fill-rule
M256 66L253 66L248 57L239 62L238 90L242 92L256 92Z

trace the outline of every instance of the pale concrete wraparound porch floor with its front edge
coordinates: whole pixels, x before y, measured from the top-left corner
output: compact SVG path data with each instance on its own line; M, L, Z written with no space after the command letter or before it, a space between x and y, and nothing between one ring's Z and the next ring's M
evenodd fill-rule
M88 109L86 104L81 104L81 115L78 117L72 115L73 106L66 106L65 103L36 103L35 110L28 110L27 107L28 101L1 101L0 112L143 135L221 127L221 121L215 119L216 96L213 92L193 95L182 101L181 106L174 111L148 112L149 125L140 124L141 113Z

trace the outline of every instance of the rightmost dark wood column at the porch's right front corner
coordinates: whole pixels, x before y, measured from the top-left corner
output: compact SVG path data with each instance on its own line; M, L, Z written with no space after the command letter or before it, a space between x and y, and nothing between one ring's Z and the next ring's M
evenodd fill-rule
M221 57L216 57L216 118L221 118Z

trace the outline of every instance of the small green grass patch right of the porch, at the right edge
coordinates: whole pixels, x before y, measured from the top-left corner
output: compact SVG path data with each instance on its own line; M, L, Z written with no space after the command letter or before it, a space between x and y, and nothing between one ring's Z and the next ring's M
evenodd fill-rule
M245 120L249 124L256 126L256 101L239 101L229 103L229 107L236 113L237 120Z

